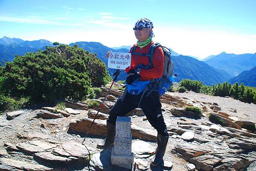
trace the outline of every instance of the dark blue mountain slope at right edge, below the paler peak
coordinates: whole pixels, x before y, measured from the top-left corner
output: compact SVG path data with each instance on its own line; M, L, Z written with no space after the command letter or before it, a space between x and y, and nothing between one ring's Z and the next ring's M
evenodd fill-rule
M239 84L244 83L244 85L256 87L256 66L249 71L241 72L238 76L231 78L229 82L232 84L236 82Z

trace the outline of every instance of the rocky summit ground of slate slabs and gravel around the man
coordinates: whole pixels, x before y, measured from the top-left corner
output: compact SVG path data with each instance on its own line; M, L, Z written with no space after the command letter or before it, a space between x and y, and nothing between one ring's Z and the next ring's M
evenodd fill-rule
M88 110L87 102L66 102L67 108L62 111L46 107L0 115L0 170L125 171L110 164L113 147L96 149L106 133L109 109L122 94L118 86L110 91L85 140L96 115L95 110ZM96 101L101 102L106 91L102 87ZM170 134L164 167L149 165L157 147L157 132L138 108L128 114L134 153L131 170L256 170L256 105L194 92L168 92L161 102ZM198 106L204 112L197 116L184 111L184 106Z

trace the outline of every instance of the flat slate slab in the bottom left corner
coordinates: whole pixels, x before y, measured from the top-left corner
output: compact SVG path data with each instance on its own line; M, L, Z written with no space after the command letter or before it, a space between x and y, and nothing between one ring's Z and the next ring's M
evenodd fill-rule
M20 160L0 158L0 170L2 171L51 171L53 168L48 168L44 165L33 165Z

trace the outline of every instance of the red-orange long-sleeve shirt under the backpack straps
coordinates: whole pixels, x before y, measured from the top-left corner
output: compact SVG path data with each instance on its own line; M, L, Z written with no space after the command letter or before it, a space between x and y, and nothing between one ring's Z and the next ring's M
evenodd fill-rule
M152 44L154 44L153 41L151 43L149 43L147 46L140 48L139 46L137 46L137 43L136 43L135 46L137 46L137 47L135 49L135 52L148 54L148 50ZM130 53L131 53L131 50L130 50ZM153 57L153 66L154 67L149 68L149 69L141 68L141 70L140 70L141 79L140 80L147 81L147 80L150 80L151 78L161 77L163 74L163 66L164 66L163 62L164 62L163 49L161 47L157 47L154 52L154 57ZM148 66L149 65L148 57L133 54L131 57L131 67L136 67L140 64L143 64L144 66Z

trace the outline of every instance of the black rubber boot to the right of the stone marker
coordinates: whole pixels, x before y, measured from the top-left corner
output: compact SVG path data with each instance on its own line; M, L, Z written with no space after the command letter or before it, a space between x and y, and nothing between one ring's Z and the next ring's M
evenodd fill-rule
M166 151L168 139L169 136L163 136L157 133L157 151L154 157L151 159L151 165L157 166L163 162L163 156Z

